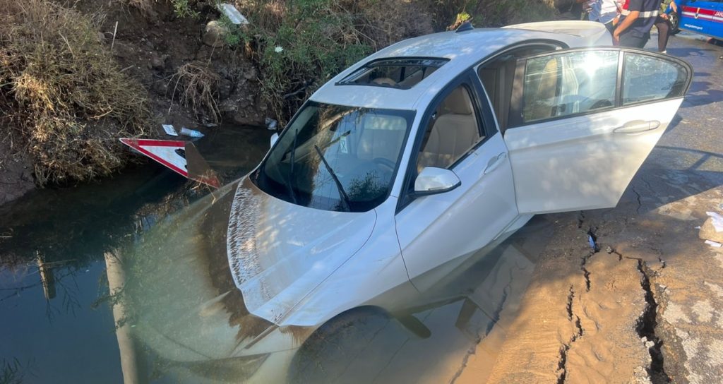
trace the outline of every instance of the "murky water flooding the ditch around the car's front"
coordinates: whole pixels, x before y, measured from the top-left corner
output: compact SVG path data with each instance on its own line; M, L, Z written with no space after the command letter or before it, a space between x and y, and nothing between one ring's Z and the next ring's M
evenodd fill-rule
M231 179L269 136L227 127L197 146ZM213 245L222 205L221 193L149 164L0 208L0 381L448 383L480 344L482 382L550 228L533 220L471 256L420 295L406 326L360 312L324 343L225 359L252 324L234 302L225 244Z

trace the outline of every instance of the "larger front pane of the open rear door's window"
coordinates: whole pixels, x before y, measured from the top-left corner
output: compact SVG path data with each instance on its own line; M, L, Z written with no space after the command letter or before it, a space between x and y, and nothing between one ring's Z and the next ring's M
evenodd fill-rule
M529 59L523 123L615 106L617 51L578 51Z

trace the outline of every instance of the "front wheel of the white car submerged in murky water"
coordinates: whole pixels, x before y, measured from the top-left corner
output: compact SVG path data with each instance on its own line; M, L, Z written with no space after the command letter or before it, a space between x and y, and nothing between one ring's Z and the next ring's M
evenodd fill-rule
M356 359L375 354L380 334L403 333L399 323L382 310L361 307L334 317L309 336L296 352L289 383L340 383ZM401 331L401 332L400 332ZM379 337L377 337L379 336ZM373 365L373 364L372 364ZM374 372L364 374L375 376ZM355 377L362 379L362 377Z

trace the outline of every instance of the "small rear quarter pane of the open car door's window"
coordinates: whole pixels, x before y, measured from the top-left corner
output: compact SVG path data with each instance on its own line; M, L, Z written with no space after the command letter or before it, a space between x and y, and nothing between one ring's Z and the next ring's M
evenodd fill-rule
M673 61L653 56L625 54L623 106L680 97L685 92L688 71Z

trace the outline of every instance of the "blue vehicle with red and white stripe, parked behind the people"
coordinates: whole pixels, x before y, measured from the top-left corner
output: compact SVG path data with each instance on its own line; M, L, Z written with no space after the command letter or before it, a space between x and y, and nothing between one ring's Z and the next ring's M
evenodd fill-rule
M670 11L672 30L693 33L723 40L723 0L678 0L677 13Z

